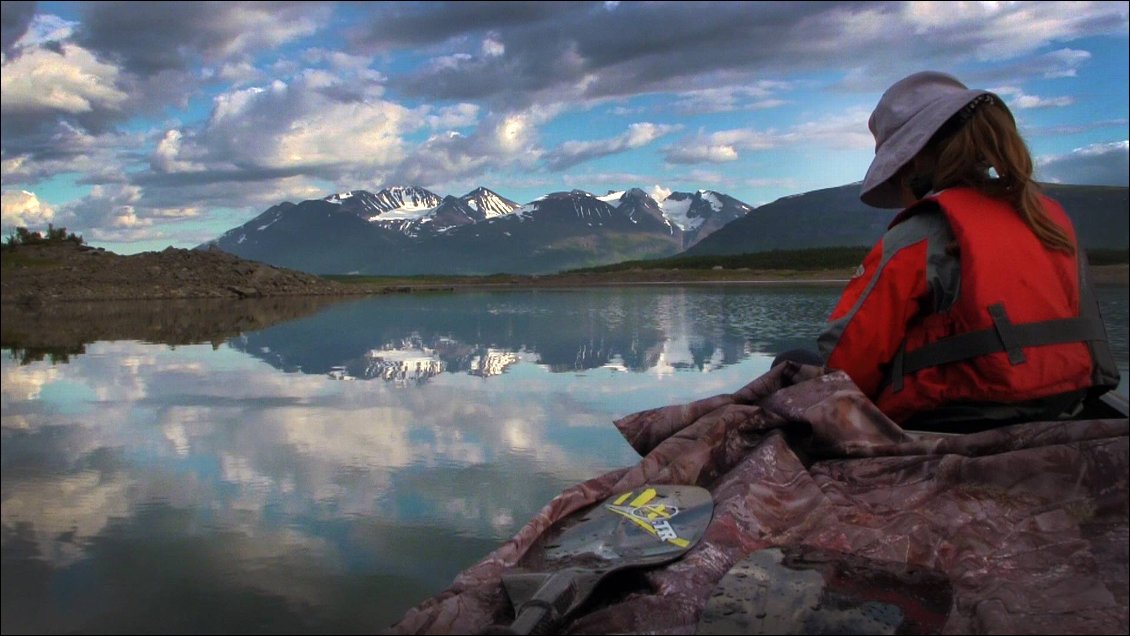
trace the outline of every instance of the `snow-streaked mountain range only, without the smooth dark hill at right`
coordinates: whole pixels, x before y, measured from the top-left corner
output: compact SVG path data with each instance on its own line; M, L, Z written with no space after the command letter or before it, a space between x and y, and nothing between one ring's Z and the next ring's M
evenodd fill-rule
M519 204L486 188L355 190L271 207L212 242L315 273L549 273L678 254L751 206L718 192L553 192Z

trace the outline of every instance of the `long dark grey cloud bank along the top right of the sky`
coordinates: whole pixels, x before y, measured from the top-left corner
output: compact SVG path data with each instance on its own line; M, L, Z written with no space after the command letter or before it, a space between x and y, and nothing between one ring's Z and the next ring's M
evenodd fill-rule
M877 92L923 68L1007 60L1083 35L1125 31L1114 3L1078 17L1055 3L993 11L902 2L414 3L382 11L362 50L410 44L432 63L391 78L425 98L523 106L655 92L745 86L808 71L845 73L836 87ZM527 12L506 16L507 7ZM1041 28L1033 33L1033 24ZM1121 29L1121 31L1120 31ZM483 42L490 38L495 53ZM498 53L501 52L501 54ZM445 56L444 56L445 55ZM1045 55L1067 75L1085 55Z

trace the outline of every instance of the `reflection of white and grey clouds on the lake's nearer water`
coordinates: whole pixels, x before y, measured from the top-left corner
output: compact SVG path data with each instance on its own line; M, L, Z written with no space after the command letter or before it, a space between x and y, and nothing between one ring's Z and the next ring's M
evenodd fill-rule
M631 461L606 413L472 376L405 392L138 342L2 372L6 633L371 633Z

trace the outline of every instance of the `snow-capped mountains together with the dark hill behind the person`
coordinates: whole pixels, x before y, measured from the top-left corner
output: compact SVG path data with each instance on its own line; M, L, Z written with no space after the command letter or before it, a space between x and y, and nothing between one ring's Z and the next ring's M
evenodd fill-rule
M1128 244L1128 189L1045 184L1088 249ZM710 190L553 192L524 204L486 188L354 190L271 207L203 246L313 273L551 273L628 260L871 245L895 210L859 184L753 207Z

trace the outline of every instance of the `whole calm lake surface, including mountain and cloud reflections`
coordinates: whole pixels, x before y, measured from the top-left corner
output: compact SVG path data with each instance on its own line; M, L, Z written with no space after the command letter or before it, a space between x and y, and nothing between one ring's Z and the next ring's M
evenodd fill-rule
M635 463L614 419L739 389L838 293L382 296L202 345L8 349L2 630L380 631ZM1099 293L1125 393L1128 293Z

